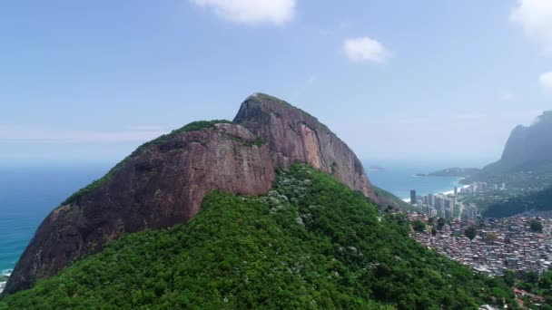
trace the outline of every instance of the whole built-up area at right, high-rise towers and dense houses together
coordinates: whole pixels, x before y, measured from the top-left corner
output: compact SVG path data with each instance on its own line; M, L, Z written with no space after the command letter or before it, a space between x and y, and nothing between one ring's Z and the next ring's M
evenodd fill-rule
M508 218L485 216L489 206L501 207L498 201L522 200L517 198L520 192L519 188L507 189L504 181L492 185L474 181L426 196L412 189L411 208L404 210L411 223L410 237L481 275L503 278L511 273L518 282L540 278L537 287L547 290L530 286L529 292L514 281L510 295L516 296L521 307L547 305L548 294L534 293L549 292L552 285L540 285L552 270L552 211L527 208Z

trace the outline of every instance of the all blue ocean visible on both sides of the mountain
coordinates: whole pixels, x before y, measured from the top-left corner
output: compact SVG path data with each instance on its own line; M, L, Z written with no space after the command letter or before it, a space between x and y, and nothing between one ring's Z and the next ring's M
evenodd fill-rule
M0 168L0 275L15 266L34 231L53 208L107 170L107 166ZM408 199L410 189L426 195L454 188L458 178L414 176L433 170L402 165L367 173L374 185Z

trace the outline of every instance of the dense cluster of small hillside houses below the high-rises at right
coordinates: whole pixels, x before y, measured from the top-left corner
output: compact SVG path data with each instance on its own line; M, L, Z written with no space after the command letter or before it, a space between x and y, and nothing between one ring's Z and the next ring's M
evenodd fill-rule
M409 213L411 220L430 225L426 215ZM486 220L451 219L440 231L412 232L412 237L427 247L488 276L501 276L506 270L517 273L542 273L552 266L552 219L540 218L543 232L534 232L535 218L513 217ZM465 236L469 227L477 228L473 239Z

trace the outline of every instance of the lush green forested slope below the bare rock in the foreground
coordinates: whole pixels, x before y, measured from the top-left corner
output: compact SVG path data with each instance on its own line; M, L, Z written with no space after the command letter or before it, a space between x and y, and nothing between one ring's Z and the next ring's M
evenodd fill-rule
M215 190L189 223L125 235L0 309L477 309L508 290L409 238L402 214L294 164L267 195Z

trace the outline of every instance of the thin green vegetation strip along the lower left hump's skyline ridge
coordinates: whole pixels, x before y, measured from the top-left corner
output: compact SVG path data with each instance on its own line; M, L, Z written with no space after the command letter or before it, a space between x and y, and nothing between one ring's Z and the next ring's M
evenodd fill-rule
M214 128L215 124L220 123L232 123L232 121L225 121L225 120L214 120L214 121L192 121L191 123L183 126L180 129L174 130L171 133L163 134L157 139L151 140L149 142L144 143L142 146L140 146L138 149L134 150L133 153L130 156L127 156L124 160L121 160L115 167L113 167L112 170L109 170L107 174L104 175L101 179L95 179L92 183L87 185L83 189L79 189L76 191L73 195L71 195L68 199L65 199L64 202L60 204L61 206L68 205L70 203L76 202L79 198L83 197L86 193L90 192L93 189L97 189L101 187L104 183L108 182L110 179L113 178L113 174L121 170L124 166L124 164L127 162L129 158L131 158L133 155L137 154L140 151L143 151L146 148L156 146L163 144L163 142L166 142L167 140L177 136L178 134L182 132L188 132L188 131L202 131L204 129ZM264 144L262 140L255 140L251 145L261 145Z

